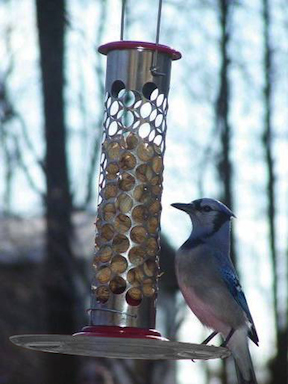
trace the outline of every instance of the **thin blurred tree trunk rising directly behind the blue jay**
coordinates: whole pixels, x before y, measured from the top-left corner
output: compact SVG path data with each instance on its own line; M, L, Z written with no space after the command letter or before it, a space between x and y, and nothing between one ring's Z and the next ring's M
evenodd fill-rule
M220 73L219 90L215 102L216 132L220 135L220 149L217 163L221 192L220 200L233 211L232 192L232 161L231 161L231 136L232 128L229 122L230 112L230 57L229 43L231 39L231 12L233 3L231 0L218 0L218 22L220 27ZM236 265L235 242L233 232L231 234L231 259ZM222 360L221 383L228 384L227 360ZM207 376L209 377L209 375Z

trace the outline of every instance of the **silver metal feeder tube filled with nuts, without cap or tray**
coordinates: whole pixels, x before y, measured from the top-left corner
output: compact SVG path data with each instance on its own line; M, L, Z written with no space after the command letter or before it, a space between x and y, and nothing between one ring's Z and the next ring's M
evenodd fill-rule
M91 324L155 326L171 56L107 54Z

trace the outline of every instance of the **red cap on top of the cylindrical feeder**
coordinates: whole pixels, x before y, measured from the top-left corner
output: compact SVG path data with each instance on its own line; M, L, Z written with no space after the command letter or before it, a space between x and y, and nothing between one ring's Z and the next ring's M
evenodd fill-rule
M181 59L182 55L179 51L168 47L167 45L155 44L155 43L147 43L145 41L113 41L112 43L107 43L101 45L98 48L98 52L103 55L107 55L108 52L114 50L122 50L122 49L139 49L139 50L149 50L149 51L158 51L161 53L166 53L171 57L172 60Z

